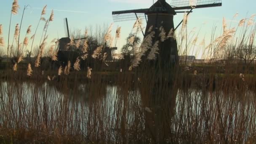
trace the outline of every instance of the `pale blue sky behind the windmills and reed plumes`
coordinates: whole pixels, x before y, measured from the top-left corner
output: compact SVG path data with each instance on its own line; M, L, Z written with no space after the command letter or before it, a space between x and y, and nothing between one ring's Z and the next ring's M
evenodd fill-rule
M0 24L3 25L3 35L1 37L4 37L5 41L5 46L0 47L2 49L7 48L12 2L13 0L0 0ZM166 2L170 3L171 0L166 0ZM80 29L83 32L85 27L108 27L113 23L112 11L149 8L152 3L153 0L19 0L21 8L19 9L18 15L12 17L10 40L13 40L16 24L20 24L21 22L22 11L25 5L28 5L28 7L24 12L24 19L21 26L21 39L24 39L27 27L30 24L32 25L32 34L35 32L41 11L43 7L47 5L46 19L50 16L51 10L54 10L54 20L50 22L47 32L47 35L49 35L48 41L50 43L53 38L66 37L64 18L68 19L71 31ZM254 10L255 5L256 0L222 0L221 7L194 9L193 12L189 14L188 29L196 27L197 30L200 29L199 36L208 36L213 25L216 25L221 31L223 17L227 19L227 22L236 25L240 19L248 18L253 13L256 13ZM239 15L236 19L232 19L235 13L239 13ZM182 19L183 14L178 13L174 16L174 25L179 24ZM121 38L116 45L118 47L117 53L120 52L120 48L125 43L125 39L131 32L134 22L135 21L123 21L114 23L112 29L113 35L117 27L122 27ZM39 45L43 27L44 23L41 21L34 45Z

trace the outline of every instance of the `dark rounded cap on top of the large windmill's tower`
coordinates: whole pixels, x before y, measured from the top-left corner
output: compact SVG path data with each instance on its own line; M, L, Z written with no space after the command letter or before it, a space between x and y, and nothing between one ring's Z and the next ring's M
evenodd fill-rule
M176 15L174 9L165 2L165 0L157 0L148 10L147 14L150 13L170 13Z

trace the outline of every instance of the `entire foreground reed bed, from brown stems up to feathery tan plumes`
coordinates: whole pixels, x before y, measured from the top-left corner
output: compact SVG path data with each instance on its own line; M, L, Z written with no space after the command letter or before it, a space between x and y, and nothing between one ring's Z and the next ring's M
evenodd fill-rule
M223 32L216 36L213 29L208 46L204 40L197 43L198 34L184 36L186 16L179 33L160 29L161 41L178 41L180 55L194 51L195 45L203 48L203 57L208 59L200 64L181 60L171 70L158 69L154 60L161 49L160 41L152 43L156 36L151 32L140 45L138 19L121 60L107 61L104 53L106 46L116 45L120 38L120 27L116 36L111 36L111 24L96 37L86 30L85 40L75 42L74 37L81 37L77 31L69 48L80 49L81 56L53 67L58 40L52 40L46 49L47 29L54 16L52 11L49 20L43 17L46 7L40 16L46 24L35 59L30 57L31 46L27 62L23 60L28 39L9 46L8 36L7 55L12 61L0 71L1 143L256 142L254 16L247 23L246 19L240 21L236 29L241 31L227 29L223 19ZM18 0L14 0L11 16L18 9ZM0 46L4 45L2 29L0 24ZM19 33L17 24L13 41L19 41ZM35 34L30 38L32 43ZM110 72L106 67L115 69Z

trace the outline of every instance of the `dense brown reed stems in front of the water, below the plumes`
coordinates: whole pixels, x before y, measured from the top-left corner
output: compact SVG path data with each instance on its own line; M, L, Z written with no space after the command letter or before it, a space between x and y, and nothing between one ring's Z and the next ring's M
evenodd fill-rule
M181 78L182 75L179 76ZM20 82L0 84L2 142L80 143L253 143L255 91L240 77L198 80L172 90L133 75L109 84ZM254 79L255 80L255 79ZM215 84L214 84L215 83ZM214 87L214 88L213 88ZM255 86L254 86L255 88ZM155 89L154 89L155 90ZM255 90L255 89L254 89ZM172 99L152 93L168 94Z

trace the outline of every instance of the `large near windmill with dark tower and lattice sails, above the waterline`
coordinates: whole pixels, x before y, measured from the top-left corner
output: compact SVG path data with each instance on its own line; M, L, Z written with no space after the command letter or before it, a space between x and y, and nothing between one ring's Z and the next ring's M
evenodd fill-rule
M161 67L165 67L166 65L178 64L178 49L176 39L167 39L163 42L160 41L159 28L163 27L165 32L169 32L171 29L174 31L179 27L180 24L174 28L173 24L173 16L176 13L184 13L187 11L179 11L179 10L187 10L191 9L187 12L187 15L192 12L195 8L208 8L208 7L216 7L221 6L221 0L171 0L171 5L166 3L165 0L157 0L150 8L146 9L134 9L134 10L126 10L126 11L113 11L112 16L115 22L118 21L128 21L128 20L136 20L146 19L147 27L145 30L144 37L149 35L149 27L153 27L155 30L155 40L159 40L159 56L157 60L160 60Z

